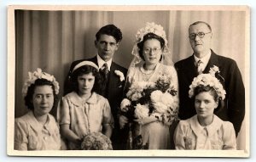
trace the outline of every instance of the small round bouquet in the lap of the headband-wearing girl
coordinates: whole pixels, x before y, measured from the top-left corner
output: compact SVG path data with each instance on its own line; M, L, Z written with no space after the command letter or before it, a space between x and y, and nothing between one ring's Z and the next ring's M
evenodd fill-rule
M101 132L92 132L84 136L82 150L112 150L110 139Z

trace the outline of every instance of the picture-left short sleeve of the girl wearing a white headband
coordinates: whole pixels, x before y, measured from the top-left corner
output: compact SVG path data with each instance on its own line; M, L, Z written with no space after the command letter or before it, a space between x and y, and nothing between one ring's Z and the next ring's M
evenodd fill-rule
M59 125L70 124L70 112L67 98L61 98L57 107L57 121Z

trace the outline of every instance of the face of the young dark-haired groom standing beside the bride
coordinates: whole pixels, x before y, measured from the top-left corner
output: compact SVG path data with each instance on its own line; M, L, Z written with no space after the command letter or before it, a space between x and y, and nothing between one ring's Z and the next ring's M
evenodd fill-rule
M103 34L99 40L95 42L95 46L98 49L99 56L104 60L108 61L113 58L113 53L118 50L119 42L116 42L113 36Z

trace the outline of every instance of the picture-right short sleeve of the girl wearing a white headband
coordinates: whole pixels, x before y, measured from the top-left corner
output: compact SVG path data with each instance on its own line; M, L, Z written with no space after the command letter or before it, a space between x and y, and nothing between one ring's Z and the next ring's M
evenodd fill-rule
M103 98L103 118L102 118L102 126L110 125L111 127L114 126L113 122L113 115L111 113L111 108L108 103L108 99Z

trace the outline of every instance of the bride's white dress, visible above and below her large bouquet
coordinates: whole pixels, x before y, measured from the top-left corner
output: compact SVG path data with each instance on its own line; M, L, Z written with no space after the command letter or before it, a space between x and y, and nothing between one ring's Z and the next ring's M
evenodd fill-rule
M158 80L160 74L170 75L172 77L172 85L177 89L177 72L173 66L157 64L154 70L147 71L143 66L130 67L127 74L128 85L137 81L151 81ZM175 96L178 102L178 94ZM140 125L140 134L143 137L143 145L148 144L148 149L168 149L171 148L171 139L169 132L169 125L161 121L153 121L147 124Z

